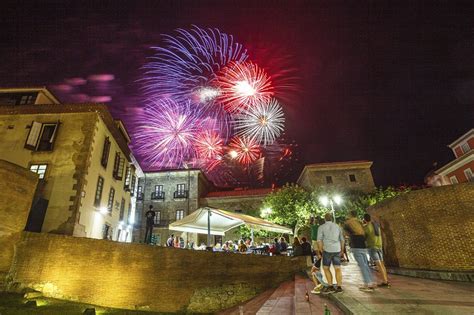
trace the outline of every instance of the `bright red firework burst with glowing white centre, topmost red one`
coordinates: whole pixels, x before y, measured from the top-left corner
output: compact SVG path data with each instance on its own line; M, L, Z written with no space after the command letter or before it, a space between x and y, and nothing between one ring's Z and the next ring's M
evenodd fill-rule
M230 63L222 69L215 84L220 91L219 100L229 113L268 102L274 94L270 77L251 62Z

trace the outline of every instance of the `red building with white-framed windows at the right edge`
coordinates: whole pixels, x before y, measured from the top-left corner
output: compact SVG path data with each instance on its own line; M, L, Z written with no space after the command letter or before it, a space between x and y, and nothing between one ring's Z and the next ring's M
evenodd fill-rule
M435 171L443 180L438 181L441 186L445 184L458 184L474 181L474 129L448 145L453 151L455 159Z

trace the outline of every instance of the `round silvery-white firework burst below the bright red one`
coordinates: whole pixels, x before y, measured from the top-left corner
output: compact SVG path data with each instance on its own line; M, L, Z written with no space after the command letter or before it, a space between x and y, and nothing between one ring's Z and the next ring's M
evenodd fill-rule
M264 146L272 144L284 128L285 117L280 104L271 99L267 103L258 103L236 115L237 135L255 139Z

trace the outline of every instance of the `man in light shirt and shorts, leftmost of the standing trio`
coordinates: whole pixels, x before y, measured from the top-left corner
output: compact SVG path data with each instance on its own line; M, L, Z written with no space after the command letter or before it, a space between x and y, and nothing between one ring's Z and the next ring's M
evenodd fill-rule
M318 257L323 259L323 270L328 280L329 286L324 287L321 293L328 294L331 292L342 292L342 271L341 271L341 253L344 248L344 237L339 226L332 222L332 214L326 213L324 215L326 221L318 228ZM331 273L331 263L336 272L337 287L333 287L333 275Z

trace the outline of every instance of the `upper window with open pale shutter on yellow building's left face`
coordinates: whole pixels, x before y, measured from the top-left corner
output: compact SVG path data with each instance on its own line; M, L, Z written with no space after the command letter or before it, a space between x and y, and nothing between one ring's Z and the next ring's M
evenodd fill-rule
M25 148L33 151L53 150L59 123L39 123L34 121L26 138Z

